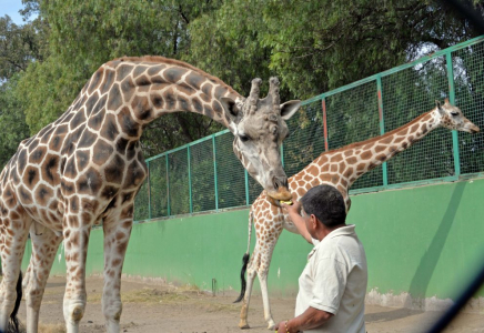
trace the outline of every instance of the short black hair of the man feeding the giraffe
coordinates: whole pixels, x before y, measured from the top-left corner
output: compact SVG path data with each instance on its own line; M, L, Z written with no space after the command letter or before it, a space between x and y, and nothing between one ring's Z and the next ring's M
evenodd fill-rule
M343 195L334 186L317 185L307 191L301 199L307 214L314 214L326 226L344 224L346 206Z

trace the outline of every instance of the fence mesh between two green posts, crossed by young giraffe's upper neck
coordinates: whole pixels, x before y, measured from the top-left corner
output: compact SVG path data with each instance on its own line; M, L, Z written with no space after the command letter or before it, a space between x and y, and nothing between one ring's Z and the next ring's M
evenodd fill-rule
M382 78L385 132L411 122L448 95L445 57ZM389 184L455 174L452 132L437 129L387 162Z

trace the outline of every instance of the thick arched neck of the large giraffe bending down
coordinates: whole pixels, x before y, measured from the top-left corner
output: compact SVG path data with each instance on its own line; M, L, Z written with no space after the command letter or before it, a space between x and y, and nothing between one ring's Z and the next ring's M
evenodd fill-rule
M189 111L225 128L233 121L221 98L243 98L231 87L188 63L162 57L122 58L102 65L84 87L108 113L114 112L124 134L139 139L142 129L165 113ZM102 102L103 101L103 102Z

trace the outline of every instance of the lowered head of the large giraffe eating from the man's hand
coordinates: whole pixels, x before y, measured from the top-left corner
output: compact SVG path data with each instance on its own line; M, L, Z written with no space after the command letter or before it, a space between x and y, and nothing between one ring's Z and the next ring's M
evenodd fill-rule
M261 82L261 79L252 80L249 98L239 103L222 99L232 122L233 151L269 196L290 200L288 176L281 161L281 144L289 134L285 120L299 110L301 101L280 104L276 78L270 79L269 94L259 99Z

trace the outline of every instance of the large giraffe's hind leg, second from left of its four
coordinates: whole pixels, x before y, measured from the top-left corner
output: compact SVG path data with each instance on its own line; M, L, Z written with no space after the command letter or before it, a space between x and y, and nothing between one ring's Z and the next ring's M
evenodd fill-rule
M32 223L30 239L32 242L32 255L26 278L23 279L23 286L27 299L27 332L34 333L38 332L39 310L46 283L62 236L56 235L48 228L38 234Z

